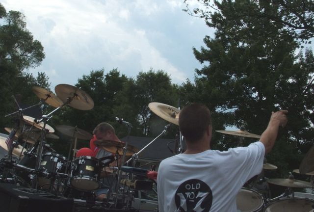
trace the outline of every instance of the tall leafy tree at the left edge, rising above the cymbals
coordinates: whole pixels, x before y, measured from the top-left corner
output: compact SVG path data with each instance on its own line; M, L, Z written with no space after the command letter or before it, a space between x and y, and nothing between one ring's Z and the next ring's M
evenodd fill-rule
M26 28L25 16L18 11L6 12L0 4L1 126L9 123L9 119L3 116L15 108L11 96L25 92L26 87L22 85L29 87L36 83L26 69L38 66L44 57L42 45Z

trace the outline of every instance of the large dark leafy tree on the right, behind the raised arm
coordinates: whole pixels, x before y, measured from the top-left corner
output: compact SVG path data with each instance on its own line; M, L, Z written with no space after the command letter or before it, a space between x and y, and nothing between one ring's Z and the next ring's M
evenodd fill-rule
M304 2L306 9L312 8L311 2ZM192 90L193 99L206 103L213 111L219 127L232 125L261 134L271 111L288 109L288 126L280 132L279 141L267 156L280 167L279 175L287 177L288 170L300 163L299 151L305 149L302 146L313 143L313 115L309 105L313 98L313 53L307 49L296 54L299 47L296 39L307 39L313 32L311 27L300 33L292 32L287 25L270 21L268 15L256 14L257 8L262 7L261 13L279 11L276 14L287 18L284 14L288 11L280 12L279 5L271 9L273 4L274 1L223 0L214 1L215 12L194 10L201 12L208 26L216 31L213 39L205 37L206 47L193 48L195 57L209 65L196 70L196 88ZM307 18L313 10L305 13ZM313 15L306 23L312 23L312 19ZM191 89L189 82L184 87ZM227 136L216 134L213 137L216 143L230 146L228 142L223 144L222 137Z

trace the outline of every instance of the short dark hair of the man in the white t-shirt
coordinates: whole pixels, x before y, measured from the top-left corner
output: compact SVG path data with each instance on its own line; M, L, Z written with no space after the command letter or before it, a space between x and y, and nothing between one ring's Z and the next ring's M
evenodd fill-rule
M179 128L189 142L200 140L209 125L211 125L210 111L203 104L192 103L180 111Z

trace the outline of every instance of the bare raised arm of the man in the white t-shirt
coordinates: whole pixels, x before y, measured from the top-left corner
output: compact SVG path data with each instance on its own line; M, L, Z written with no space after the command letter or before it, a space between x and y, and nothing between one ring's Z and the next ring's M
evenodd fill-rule
M265 146L265 154L270 152L275 144L277 138L279 127L285 127L287 124L288 110L279 110L277 112L272 112L268 126L266 130L262 133L260 141Z

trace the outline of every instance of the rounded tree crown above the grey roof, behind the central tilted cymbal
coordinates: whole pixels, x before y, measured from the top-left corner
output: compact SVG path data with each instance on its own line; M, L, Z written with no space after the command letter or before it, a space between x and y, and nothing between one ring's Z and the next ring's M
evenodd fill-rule
M159 102L177 107L177 89L164 71L150 69L148 72L140 72L136 79L130 79L117 95L121 104L115 106L116 114L121 114L131 121L134 135L159 134L167 122L157 117L148 105L151 102Z

